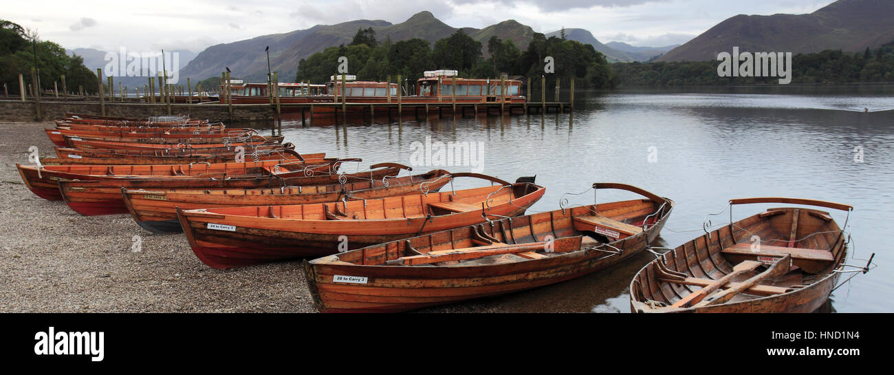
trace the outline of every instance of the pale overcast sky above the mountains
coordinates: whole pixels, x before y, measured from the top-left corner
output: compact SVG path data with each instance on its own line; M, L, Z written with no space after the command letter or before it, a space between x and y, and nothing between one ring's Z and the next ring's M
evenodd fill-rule
M736 14L811 13L832 0L189 0L9 1L0 18L63 47L150 52L206 47L358 19L405 21L429 11L452 27L513 19L538 32L590 30L601 42L684 43ZM400 4L400 5L399 5Z

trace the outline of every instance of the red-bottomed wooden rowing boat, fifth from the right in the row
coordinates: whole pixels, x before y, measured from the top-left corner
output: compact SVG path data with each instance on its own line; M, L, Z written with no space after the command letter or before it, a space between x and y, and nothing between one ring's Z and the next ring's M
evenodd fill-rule
M342 159L344 160L344 159ZM329 174L335 170L340 161L325 161L321 164L295 165L307 166L307 171L317 171L323 175L299 175L283 177L283 175L241 176L237 178L114 178L99 181L59 181L58 191L65 203L75 212L84 216L112 215L128 213L122 197L122 188L144 190L168 189L246 189L246 188L280 188L288 186L310 186L333 184L344 180L345 183L380 179L385 176L398 175L401 167L391 165L375 165L374 169L358 174ZM275 166L274 166L275 167ZM373 176L373 177L370 177Z

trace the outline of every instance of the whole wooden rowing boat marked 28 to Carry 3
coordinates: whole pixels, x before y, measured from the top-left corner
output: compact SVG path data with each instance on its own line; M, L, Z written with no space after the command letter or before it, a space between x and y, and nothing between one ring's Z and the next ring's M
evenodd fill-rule
M407 311L546 286L633 257L671 215L667 198L594 186L647 199L502 218L311 260L311 297L320 311Z

